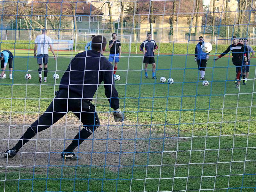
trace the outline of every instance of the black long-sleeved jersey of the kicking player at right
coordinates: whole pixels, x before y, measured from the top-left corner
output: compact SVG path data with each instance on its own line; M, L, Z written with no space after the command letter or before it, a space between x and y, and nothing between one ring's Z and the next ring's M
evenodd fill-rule
M246 56L248 60L248 54L246 54L246 52L248 52L248 49L246 46L244 47L244 44L240 44L240 43L236 45L235 44L229 45L228 49L223 53L221 53L219 58L226 55L230 51L232 52L232 60L243 62L244 56Z

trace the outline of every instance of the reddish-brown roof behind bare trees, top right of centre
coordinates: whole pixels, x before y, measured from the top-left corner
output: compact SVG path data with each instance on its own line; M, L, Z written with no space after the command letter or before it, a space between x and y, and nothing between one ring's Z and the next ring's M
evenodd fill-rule
M203 13L203 0L199 0L199 13ZM172 14L173 0L139 0L138 1L138 12L139 14L150 13L150 2L153 3L153 14ZM179 14L191 14L196 12L195 5L196 0L180 0L176 2L176 13Z

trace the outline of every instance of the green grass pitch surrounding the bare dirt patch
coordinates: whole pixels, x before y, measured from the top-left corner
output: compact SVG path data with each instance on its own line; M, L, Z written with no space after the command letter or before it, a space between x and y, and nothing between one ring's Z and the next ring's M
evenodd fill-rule
M8 79L8 72L7 79L0 79L0 124L44 112L60 83L52 75L57 71L61 78L75 55L59 52L57 65L49 59L48 82L39 84L32 53L16 50L13 80ZM122 56L116 88L125 121L119 125L122 131L132 128L136 134L132 139L115 140L121 148L120 142L132 143L117 151L116 169L106 162L101 166L1 166L0 191L255 191L255 60L251 61L252 80L238 90L228 57L213 63L211 56L205 75L209 86L204 87L194 56L156 57L157 80L145 79L141 55ZM27 70L32 75L28 81ZM160 83L161 76L172 77L174 84ZM103 86L93 102L100 120L109 119L110 126L116 126ZM144 132L148 134L137 137ZM108 150L103 154L111 155ZM6 159L0 161L2 165Z

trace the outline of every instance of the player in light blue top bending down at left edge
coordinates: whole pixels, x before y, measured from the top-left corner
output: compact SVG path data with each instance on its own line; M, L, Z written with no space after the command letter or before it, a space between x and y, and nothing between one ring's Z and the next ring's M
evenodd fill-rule
M9 64L9 71L10 71L10 79L12 79L12 59L13 59L13 55L12 52L8 51L8 50L4 50L1 53L1 68L2 68L2 73L0 74L0 79L5 79L6 75L5 75L5 68L7 66L7 62Z

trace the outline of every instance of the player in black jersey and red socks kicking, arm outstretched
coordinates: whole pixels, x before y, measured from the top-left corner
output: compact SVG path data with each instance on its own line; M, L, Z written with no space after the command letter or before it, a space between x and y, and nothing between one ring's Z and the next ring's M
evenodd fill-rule
M228 52L232 52L232 62L236 66L236 88L239 88L240 79L241 79L241 71L243 66L243 62L245 61L245 65L248 64L248 49L244 44L237 43L236 36L232 36L233 44L228 46L228 49L221 53L219 57L216 57L214 60L217 61L222 56L226 55Z

